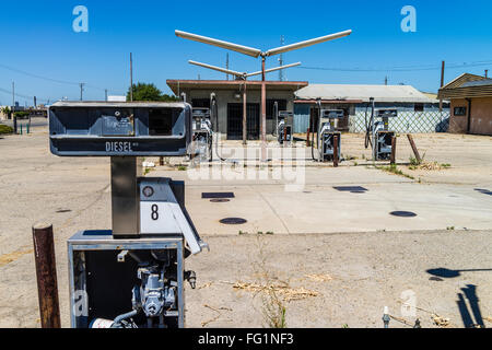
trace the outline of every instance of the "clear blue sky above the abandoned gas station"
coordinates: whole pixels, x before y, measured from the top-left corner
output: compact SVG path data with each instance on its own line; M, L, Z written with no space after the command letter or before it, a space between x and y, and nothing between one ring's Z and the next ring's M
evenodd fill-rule
M89 33L74 33L72 10L89 9ZM405 5L417 9L417 33L403 33ZM292 51L284 62L303 67L363 71L286 71L290 81L311 83L406 83L436 91L442 60L446 81L464 72L492 75L492 1L2 1L0 21L0 105L11 104L12 81L25 96L78 100L77 82L85 82L85 100L125 94L128 56L133 52L134 81L153 82L168 93L166 79L223 79L224 74L189 66L188 59L225 66L226 50L177 38L174 30L199 33L246 46L280 45L353 30L347 38ZM489 61L490 67L462 67ZM267 67L278 66L278 57ZM460 67L456 67L460 66ZM8 68L52 80L37 79ZM422 71L379 71L395 67L434 68ZM230 68L257 71L260 59L230 52ZM378 71L366 71L374 70ZM394 70L394 69L393 69ZM271 73L269 79L278 79ZM23 105L31 98L17 96Z

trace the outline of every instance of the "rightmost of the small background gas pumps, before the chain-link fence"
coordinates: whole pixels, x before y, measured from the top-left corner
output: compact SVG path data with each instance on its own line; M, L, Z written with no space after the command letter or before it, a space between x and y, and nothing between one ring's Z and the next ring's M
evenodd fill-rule
M375 109L375 101L371 98L372 112L366 125L365 148L371 144L374 161L389 160L391 156L391 141L395 131L389 130L389 118L398 117L397 109ZM378 119L378 120L376 120Z

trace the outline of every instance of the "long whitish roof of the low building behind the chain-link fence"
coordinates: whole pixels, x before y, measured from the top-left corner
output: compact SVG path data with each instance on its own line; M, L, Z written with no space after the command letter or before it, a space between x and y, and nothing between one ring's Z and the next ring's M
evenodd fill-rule
M362 101L384 103L434 103L409 85L331 85L311 84L295 93L297 100Z

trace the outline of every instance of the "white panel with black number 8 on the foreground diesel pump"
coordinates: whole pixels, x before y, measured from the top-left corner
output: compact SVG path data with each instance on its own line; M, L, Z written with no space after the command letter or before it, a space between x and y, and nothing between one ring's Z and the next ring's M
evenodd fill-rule
M140 202L140 232L143 234L181 233L171 205L165 201Z

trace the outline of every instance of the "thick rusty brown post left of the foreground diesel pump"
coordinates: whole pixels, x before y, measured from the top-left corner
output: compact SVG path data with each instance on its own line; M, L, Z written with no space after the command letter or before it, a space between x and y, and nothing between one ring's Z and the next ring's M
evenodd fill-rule
M52 225L34 225L33 241L42 327L60 328L60 306L58 302Z

